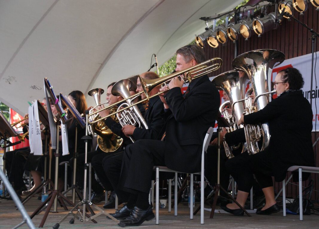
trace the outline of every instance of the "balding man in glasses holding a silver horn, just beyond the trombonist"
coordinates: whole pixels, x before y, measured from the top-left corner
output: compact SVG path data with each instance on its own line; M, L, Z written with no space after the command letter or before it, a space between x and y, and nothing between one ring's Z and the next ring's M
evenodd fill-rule
M143 79L158 79L159 76L153 72L146 72L142 73L141 78ZM136 92L142 92L142 85L139 79L137 79L137 89ZM155 87L150 92L150 96L153 94L157 94L159 92L159 87ZM145 99L145 94L141 94L142 99ZM123 138L128 138L128 136L132 136L133 139L136 141L138 139L157 139L160 140L164 130L165 130L165 121L162 119L161 113L163 113L163 103L160 101L158 96L155 96L149 100L147 103L147 107L145 110L144 119L146 121L148 129L145 128L137 128L132 125L125 125L122 127L122 136ZM107 125L112 124L112 121L107 119ZM119 124L118 124L119 125ZM105 174L107 175L109 181L111 182L113 189L115 190L117 196L119 197L119 203L127 202L127 197L129 196L125 192L121 192L118 190L118 182L120 179L121 174L121 166L122 166L122 158L123 158L123 151L118 152L114 155L107 156L103 159L103 168ZM130 202L129 202L130 203ZM115 202L112 199L109 203L105 204L104 208L111 208L114 207ZM113 216L117 219L125 219L127 216L130 215L134 206L125 205L119 212L113 214Z

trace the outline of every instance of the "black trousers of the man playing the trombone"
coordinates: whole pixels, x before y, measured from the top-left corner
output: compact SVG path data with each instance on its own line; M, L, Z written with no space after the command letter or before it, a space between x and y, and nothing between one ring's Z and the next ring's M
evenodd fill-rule
M149 193L154 165L165 165L164 142L143 139L128 145L123 154L118 190Z

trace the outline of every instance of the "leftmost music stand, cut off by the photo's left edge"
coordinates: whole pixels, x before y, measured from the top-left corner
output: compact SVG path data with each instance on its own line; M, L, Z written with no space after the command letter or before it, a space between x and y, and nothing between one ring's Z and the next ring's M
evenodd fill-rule
M3 139L4 140L4 153L3 153L3 172L5 174L5 153L6 153L6 149L7 147L13 146L13 145L17 145L19 143L21 143L21 141L18 142L10 142L7 139L10 137L15 137L17 136L17 132L13 129L13 127L11 127L9 121L6 119L6 117L4 116L4 114L0 111L0 140ZM8 145L7 145L8 143ZM5 185L3 183L2 186L2 196L0 196L1 199L9 199L5 197Z

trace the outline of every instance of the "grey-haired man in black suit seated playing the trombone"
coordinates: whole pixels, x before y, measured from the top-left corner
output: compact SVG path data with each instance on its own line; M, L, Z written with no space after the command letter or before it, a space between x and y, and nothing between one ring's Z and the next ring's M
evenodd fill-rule
M176 72L205 61L204 51L197 45L177 50ZM219 93L208 76L193 79L184 95L183 81L172 79L161 95L166 119L164 141L137 140L125 148L118 190L130 193L128 205L133 207L130 216L120 226L138 226L154 218L148 202L154 165L165 165L182 172L198 172L204 136L214 125L219 108Z

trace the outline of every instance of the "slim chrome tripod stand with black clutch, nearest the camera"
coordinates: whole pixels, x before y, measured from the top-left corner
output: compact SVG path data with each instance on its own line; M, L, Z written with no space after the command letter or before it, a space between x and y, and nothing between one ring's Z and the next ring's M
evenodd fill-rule
M85 111L85 136L83 136L81 139L84 139L85 141L85 166L84 166L84 189L83 189L83 197L86 198L86 175L87 175L87 167L88 167L88 163L87 163L87 142L88 140L92 140L92 138L88 135L88 116L89 116L89 111L86 110ZM85 212L86 210L86 206L90 205L92 206L95 210L99 211L99 213L95 214L92 213L92 216L90 218L87 218L87 215L82 214L81 217L78 216L78 213L80 212L80 208L79 206L83 206L83 212ZM76 211L76 213L73 213L73 211ZM89 220L92 220L92 222L97 223L94 218L98 217L99 215L104 214L107 217L109 217L110 219L113 219L116 223L119 223L120 221L118 219L115 219L113 216L111 216L110 214L108 214L106 211L104 211L103 209L99 208L98 206L94 205L91 201L87 200L87 199L82 199L77 205L74 206L74 208L67 214L65 215L58 223L56 223L53 226L53 229L58 229L60 227L60 223L62 223L69 215L72 215L73 218L70 219L70 224L74 223L74 219L77 218L80 222L88 222Z

